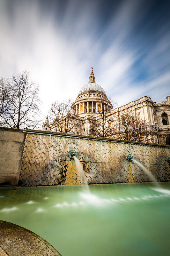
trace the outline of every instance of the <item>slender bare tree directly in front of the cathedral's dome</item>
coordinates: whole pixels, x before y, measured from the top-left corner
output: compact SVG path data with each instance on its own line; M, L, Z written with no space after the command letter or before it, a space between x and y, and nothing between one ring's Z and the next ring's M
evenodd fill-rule
M115 103L113 103L115 105ZM97 137L107 137L111 133L111 123L113 117L108 115L109 107L101 100L98 102L98 116L90 119L89 135Z

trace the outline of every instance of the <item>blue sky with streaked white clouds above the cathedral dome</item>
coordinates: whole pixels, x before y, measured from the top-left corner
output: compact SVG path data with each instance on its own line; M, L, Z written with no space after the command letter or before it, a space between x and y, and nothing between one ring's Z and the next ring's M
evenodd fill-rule
M96 83L117 107L170 94L170 1L0 1L0 76L26 69L51 102Z

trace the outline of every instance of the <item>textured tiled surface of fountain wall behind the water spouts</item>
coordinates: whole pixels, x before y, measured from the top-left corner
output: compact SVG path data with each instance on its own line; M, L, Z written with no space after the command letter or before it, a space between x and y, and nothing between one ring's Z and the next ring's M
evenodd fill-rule
M81 184L75 162L68 157L71 149L78 152L88 184L150 181L127 161L129 153L159 181L170 181L168 147L27 133L18 185Z

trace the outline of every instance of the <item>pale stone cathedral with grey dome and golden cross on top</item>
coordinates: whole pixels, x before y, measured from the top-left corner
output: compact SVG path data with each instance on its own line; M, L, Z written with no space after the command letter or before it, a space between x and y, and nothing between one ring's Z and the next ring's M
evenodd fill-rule
M149 125L158 127L153 143L170 145L170 96L166 97L166 101L158 104L153 102L150 97L144 96L113 109L104 89L99 84L96 84L93 69L89 76L88 84L81 88L76 100L72 103L72 113L74 114L75 124L77 123L78 125L75 125L70 133L89 135L90 121L99 118L102 104L107 111L108 119L112 120L109 124L110 127L114 125L119 117L131 111L133 115L141 118ZM57 132L55 120L49 124L47 116L42 125L42 130ZM109 138L114 137L111 132L107 136Z

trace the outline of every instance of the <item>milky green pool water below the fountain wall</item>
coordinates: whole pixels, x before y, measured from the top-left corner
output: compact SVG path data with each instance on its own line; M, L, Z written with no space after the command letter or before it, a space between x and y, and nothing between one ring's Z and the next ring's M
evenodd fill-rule
M161 183L169 193L170 183ZM0 188L0 220L63 256L169 255L170 194L151 183Z

